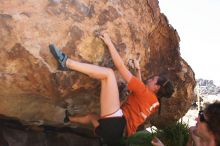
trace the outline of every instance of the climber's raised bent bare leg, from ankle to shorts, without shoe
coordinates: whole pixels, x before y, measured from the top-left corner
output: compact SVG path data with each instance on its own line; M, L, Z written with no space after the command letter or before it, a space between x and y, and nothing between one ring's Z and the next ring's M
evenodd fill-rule
M71 59L67 59L66 66L72 70L82 72L101 80L101 117L114 113L120 108L117 81L112 69L87 63L80 63Z

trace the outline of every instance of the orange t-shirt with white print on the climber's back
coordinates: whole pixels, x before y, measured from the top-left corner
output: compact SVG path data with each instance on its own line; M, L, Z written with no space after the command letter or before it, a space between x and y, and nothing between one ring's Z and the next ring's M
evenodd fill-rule
M126 119L127 136L131 136L138 126L158 109L159 102L148 86L134 76L128 83L128 89L132 93L127 97L121 109Z

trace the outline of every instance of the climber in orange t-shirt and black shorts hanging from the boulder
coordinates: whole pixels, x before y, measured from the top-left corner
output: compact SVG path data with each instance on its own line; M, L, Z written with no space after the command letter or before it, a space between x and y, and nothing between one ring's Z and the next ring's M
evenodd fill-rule
M91 123L96 135L102 137L108 145L117 145L124 129L127 136L134 134L137 127L158 109L158 99L169 98L174 89L171 81L164 76L153 76L145 85L126 68L108 34L102 32L99 37L108 46L116 68L128 83L128 89L132 91L122 106L117 81L111 68L80 63L68 58L55 45L49 45L49 48L62 70L76 70L101 81L100 115L70 116L70 122ZM138 65L136 67L140 69Z

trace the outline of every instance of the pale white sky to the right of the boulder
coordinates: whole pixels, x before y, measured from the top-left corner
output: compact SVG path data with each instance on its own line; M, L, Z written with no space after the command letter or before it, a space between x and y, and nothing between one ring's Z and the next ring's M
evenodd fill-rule
M220 85L220 0L159 0L180 36L181 56L196 79Z

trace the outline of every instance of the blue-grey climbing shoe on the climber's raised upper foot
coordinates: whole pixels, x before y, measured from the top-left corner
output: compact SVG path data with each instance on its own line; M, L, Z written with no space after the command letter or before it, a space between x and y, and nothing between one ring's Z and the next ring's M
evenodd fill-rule
M66 60L68 59L67 55L64 54L60 49L58 49L54 44L50 44L49 48L50 52L59 63L59 69L68 70L66 67Z

